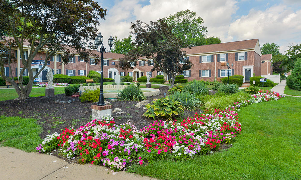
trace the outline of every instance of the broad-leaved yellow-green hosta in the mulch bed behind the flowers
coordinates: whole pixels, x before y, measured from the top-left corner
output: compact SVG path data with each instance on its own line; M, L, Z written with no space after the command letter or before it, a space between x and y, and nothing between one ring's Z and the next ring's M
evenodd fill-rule
M153 101L154 104L147 104L145 107L147 111L143 114L146 117L156 117L170 119L173 116L184 112L183 107L179 101L172 101L169 98L160 98Z

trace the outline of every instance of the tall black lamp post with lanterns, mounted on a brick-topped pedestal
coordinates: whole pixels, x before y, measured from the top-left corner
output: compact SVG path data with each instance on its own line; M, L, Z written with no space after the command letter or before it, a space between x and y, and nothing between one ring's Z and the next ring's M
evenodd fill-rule
M104 106L106 105L104 102L104 98L103 98L103 52L110 52L111 48L113 46L114 43L114 39L111 37L108 40L108 44L110 46L110 50L109 51L105 51L106 48L103 46L103 36L101 35L101 33L99 32L99 34L97 35L97 37L94 39L94 45L96 47L97 52L101 52L101 68L100 68L100 74L101 74L101 79L100 79L100 93L99 93L99 100L97 103L97 106ZM99 51L98 51L98 46L99 46Z

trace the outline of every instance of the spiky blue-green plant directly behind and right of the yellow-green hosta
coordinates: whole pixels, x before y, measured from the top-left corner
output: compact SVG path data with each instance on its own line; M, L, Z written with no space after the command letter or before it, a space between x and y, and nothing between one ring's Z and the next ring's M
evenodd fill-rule
M168 95L167 98L172 101L179 101L183 108L187 110L197 110L201 107L201 101L189 92L174 92Z

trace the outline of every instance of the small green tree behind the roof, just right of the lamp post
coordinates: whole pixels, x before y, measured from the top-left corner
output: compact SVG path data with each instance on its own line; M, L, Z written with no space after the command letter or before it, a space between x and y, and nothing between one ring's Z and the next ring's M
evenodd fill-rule
M132 42L135 39L132 39L132 35L130 34L128 37L123 38L122 40L118 39L117 36L114 38L114 46L112 48L112 52L119 54L127 54L128 51L134 49L134 43Z

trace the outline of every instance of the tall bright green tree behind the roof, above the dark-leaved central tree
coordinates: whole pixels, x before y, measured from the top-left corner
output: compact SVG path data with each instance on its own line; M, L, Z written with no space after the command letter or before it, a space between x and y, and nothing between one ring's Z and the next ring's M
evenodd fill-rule
M181 38L189 46L199 46L221 43L217 37L206 38L207 27L201 17L196 17L196 13L189 9L177 12L164 19L176 37Z

